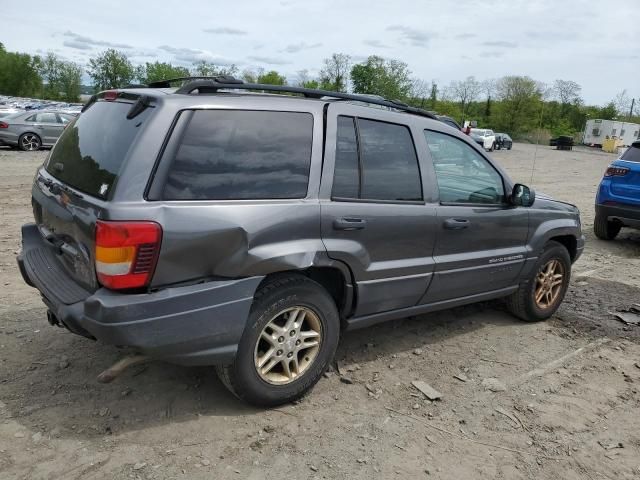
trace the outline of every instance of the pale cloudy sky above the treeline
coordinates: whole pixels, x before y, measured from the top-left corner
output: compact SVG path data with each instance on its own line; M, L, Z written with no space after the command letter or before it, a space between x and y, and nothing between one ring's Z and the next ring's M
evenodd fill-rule
M402 60L439 86L528 75L573 80L587 104L640 98L640 0L31 0L28 15L0 0L0 13L7 50L83 65L116 48L133 63L206 60L295 82L341 52Z

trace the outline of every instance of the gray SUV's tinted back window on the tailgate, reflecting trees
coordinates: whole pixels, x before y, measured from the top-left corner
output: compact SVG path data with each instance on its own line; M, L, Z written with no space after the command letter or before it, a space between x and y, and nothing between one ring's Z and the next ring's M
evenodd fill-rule
M56 143L46 170L82 192L108 198L122 162L151 108L131 120L132 104L96 102L69 124Z

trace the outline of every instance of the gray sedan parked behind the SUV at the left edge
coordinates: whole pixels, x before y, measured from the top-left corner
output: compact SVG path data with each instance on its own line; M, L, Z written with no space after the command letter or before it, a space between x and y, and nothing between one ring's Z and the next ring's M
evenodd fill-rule
M74 118L73 115L48 110L8 115L0 120L0 145L20 150L51 147Z

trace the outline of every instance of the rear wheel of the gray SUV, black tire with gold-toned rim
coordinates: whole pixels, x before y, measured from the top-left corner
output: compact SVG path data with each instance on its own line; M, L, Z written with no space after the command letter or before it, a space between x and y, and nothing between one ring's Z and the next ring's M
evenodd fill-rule
M333 298L302 275L276 277L254 297L233 364L218 376L240 399L261 407L305 395L338 346L340 318Z

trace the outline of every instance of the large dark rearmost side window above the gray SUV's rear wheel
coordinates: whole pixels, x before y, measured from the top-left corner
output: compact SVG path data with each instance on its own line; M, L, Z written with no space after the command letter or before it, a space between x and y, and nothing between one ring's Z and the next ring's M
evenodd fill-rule
M307 196L310 113L197 110L172 161L166 200Z

